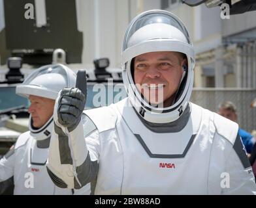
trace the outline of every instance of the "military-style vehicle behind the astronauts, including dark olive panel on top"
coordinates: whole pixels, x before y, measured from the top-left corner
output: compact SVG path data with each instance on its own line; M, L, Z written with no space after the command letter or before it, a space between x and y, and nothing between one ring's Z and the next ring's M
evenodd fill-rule
M26 15L33 13L29 13L25 5L34 7L35 18L25 17L24 12ZM3 0L1 8L5 22L2 27L0 25L0 157L21 133L28 130L29 101L16 95L16 86L40 66L59 63L74 72L84 69L81 64L84 41L83 32L78 27L77 6L76 1L69 0L35 1L32 4L29 0ZM5 63L8 64L3 65ZM108 59L94 60L94 64L94 68L86 68L86 109L109 105L121 99L116 96L120 91L125 92L120 69L109 69Z

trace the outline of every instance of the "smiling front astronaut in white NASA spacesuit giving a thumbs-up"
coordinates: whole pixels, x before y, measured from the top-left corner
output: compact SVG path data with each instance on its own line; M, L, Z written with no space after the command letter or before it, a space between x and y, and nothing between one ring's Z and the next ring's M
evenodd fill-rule
M189 102L195 52L182 21L164 10L138 15L121 56L128 98L82 112L85 92L59 93L52 180L91 182L94 194L255 194L238 124Z

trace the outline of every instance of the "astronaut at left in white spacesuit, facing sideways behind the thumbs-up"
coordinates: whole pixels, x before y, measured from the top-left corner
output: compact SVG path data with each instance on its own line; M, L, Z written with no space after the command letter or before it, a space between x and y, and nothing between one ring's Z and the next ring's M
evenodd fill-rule
M42 66L31 73L16 94L29 98L29 131L18 137L0 161L0 194L14 185L14 194L72 194L59 188L46 171L53 111L58 92L75 86L76 73L61 64Z

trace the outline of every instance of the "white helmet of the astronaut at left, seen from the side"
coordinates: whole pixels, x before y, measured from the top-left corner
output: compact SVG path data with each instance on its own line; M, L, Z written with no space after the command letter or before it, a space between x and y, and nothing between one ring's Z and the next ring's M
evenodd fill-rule
M40 67L16 86L16 94L28 98L29 95L42 98L56 99L60 90L64 87L74 87L76 73L62 64L53 64ZM30 134L37 140L43 140L50 136L53 127L53 116L42 127L33 127L33 120L29 116Z

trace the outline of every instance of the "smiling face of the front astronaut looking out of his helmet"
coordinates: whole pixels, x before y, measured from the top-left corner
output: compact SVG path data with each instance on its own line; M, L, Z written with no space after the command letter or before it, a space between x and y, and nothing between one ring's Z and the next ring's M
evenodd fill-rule
M150 52L135 58L135 84L151 104L172 105L184 72L186 59L180 53Z

